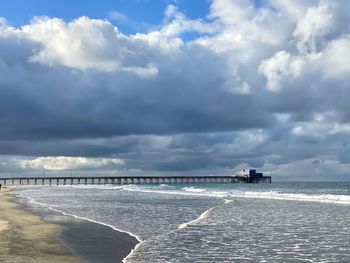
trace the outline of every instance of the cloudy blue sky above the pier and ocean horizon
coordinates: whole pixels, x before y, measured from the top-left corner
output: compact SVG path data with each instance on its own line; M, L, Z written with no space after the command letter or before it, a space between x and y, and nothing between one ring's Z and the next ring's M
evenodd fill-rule
M350 2L0 3L0 176L350 180Z

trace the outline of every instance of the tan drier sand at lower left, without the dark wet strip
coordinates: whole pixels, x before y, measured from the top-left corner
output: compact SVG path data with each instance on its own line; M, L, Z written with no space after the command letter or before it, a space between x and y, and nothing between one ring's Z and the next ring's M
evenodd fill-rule
M81 263L55 236L63 227L43 221L12 202L8 188L0 191L1 263Z

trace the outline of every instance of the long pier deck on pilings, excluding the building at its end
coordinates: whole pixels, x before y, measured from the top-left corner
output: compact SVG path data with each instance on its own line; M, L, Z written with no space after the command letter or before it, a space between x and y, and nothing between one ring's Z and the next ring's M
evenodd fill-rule
M66 176L0 177L2 185L94 185L94 184L196 184L271 183L271 176L254 179L240 176Z

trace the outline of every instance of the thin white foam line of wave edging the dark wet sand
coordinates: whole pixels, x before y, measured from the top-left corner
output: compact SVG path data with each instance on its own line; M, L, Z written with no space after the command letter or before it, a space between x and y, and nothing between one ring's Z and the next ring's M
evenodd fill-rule
M53 205L48 205L48 204L45 204L45 203L41 203L41 202L37 202L34 200L34 198L32 197L29 197L29 196L24 196L24 195L20 195L18 194L18 196L20 197L25 197L28 199L28 203L30 204L36 204L36 205L40 205L40 206L44 206L46 207L47 209L53 211L53 212L56 212L56 213L59 213L59 214L62 214L64 216L69 216L69 217L73 217L73 218L76 218L76 219L80 219L80 220L84 220L84 221L88 221L88 222L91 222L91 223L95 223L95 224L100 224L100 225L103 225L103 226L106 226L106 227L109 227L111 229L113 229L114 231L117 231L117 232L122 232L122 233L126 233L134 238L136 238L136 240L138 241L138 244L130 251L130 253L123 259L123 263L126 263L127 259L129 257L131 257L131 255L133 253L135 253L135 251L137 250L137 248L143 243L143 240L135 235L134 233L131 233L129 231L125 231L125 230L122 230L122 229L119 229L119 228L116 228L112 225L109 225L109 224L106 224L106 223L103 223L103 222L100 222L100 221L96 221L96 220L93 220L93 219L90 219L90 218L86 218L86 217L82 217L82 216L77 216L77 215L74 215L74 214L70 214L70 213L67 213L67 212L64 212L62 210L59 210L59 209L56 209L53 207Z

